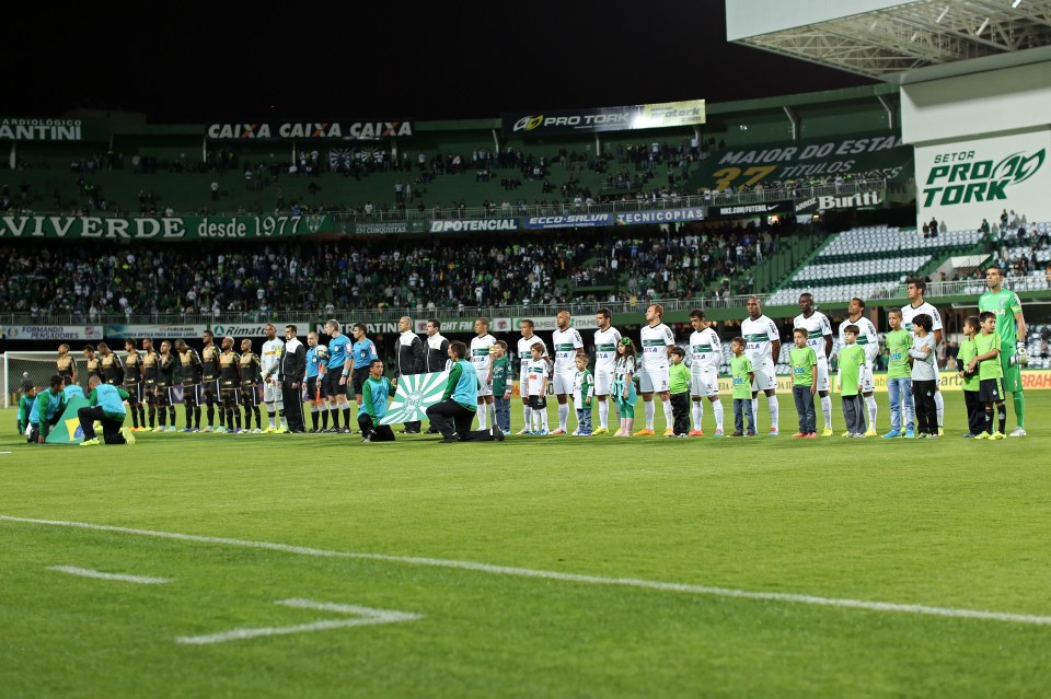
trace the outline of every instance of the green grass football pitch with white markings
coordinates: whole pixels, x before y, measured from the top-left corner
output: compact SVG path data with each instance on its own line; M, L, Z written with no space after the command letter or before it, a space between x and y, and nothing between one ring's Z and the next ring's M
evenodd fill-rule
M1026 398L993 442L951 392L938 441L793 440L785 395L748 440L32 447L7 410L0 696L1046 697Z

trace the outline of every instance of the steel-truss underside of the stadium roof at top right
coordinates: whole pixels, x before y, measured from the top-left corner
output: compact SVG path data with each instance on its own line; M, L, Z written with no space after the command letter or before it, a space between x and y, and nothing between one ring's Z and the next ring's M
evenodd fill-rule
M883 4L891 7L740 36L737 40L861 75L896 81L902 73L917 69L1017 55L1051 45L1051 0L919 0Z

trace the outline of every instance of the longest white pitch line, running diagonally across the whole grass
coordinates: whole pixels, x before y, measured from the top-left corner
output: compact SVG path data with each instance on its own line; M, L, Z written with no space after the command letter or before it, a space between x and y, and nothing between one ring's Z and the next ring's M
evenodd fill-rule
M232 539L220 536L200 536L196 534L180 534L177 532L155 532L152 529L137 529L131 527L112 526L108 524L91 524L86 522L62 522L55 520L34 520L0 514L0 522L20 522L43 526L70 527L92 532L113 532L130 534L159 539L177 541L194 541L197 544L217 544L238 548L254 548L297 556L313 556L317 558L346 558L355 560L373 560L408 566L427 566L431 568L452 568L470 570L493 575L513 575L518 578L539 578L541 580L557 580L561 582L579 583L585 585L613 585L620 587L635 587L658 592L678 592L692 595L712 595L717 597L734 597L738 599L755 599L763 602L787 602L793 604L809 604L823 607L839 607L846 609L865 609L869 611L898 611L924 616L951 617L958 619L980 619L983 621L1007 621L1013 624L1028 624L1036 626L1051 626L1051 616L1031 614L1012 614L1006 611L986 611L982 609L962 609L957 607L933 607L917 604L898 604L891 602L869 602L866 599L850 599L843 597L820 597L788 592L753 592L735 590L731 587L709 587L686 583L661 582L657 580L640 580L637 578L603 578L599 575L582 575L578 573L563 573L531 568L515 568L510 566L493 566L475 561L459 561L443 558L420 558L415 556L389 556L385 554L361 554L355 551L333 551L307 546L291 546L289 544L274 544L270 541L251 541Z

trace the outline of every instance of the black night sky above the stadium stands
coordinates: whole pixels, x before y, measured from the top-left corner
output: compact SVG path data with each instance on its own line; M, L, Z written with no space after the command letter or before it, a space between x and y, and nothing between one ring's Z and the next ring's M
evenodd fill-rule
M143 16L149 5L63 18L37 3L8 22L22 31L0 46L0 115L82 105L146 112L153 124L472 118L871 82L727 44L724 1L450 2L426 16L360 0L289 3L282 14L164 3L171 14L155 18Z

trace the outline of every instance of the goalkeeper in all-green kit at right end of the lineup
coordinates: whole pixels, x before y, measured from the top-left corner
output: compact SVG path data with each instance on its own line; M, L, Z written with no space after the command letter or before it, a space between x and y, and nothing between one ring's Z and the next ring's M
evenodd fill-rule
M1026 435L1026 397L1021 393L1021 364L1029 362L1026 351L1026 318L1021 314L1018 294L1004 289L1004 268L993 265L985 270L985 286L989 291L978 299L978 311L989 311L996 315L996 334L1000 335L1000 363L1004 370L1004 391L1015 403L1015 418L1018 427L1008 436Z

